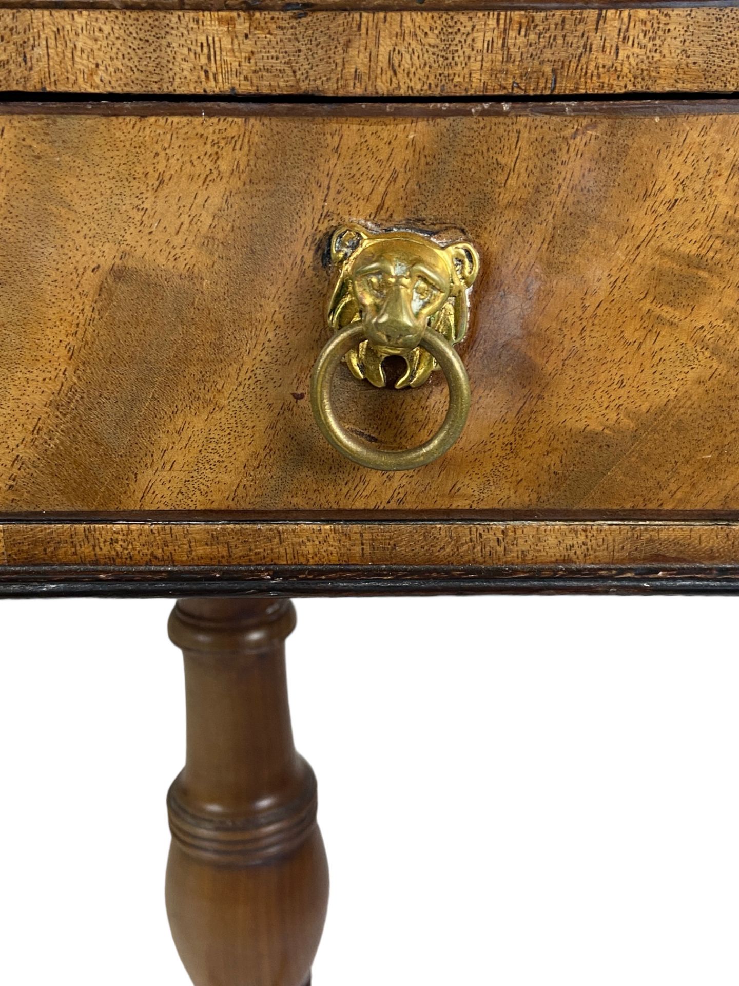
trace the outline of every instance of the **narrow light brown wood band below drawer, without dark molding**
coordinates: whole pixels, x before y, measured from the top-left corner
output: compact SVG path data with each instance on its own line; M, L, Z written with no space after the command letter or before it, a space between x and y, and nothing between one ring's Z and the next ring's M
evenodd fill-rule
M6 568L736 566L739 522L10 523ZM28 574L31 574L30 572Z

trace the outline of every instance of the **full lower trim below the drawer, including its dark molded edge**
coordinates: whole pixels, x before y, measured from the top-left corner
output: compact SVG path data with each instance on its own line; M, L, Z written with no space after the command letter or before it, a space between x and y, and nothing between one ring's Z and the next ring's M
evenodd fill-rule
M739 521L0 525L0 597L500 592L739 592Z

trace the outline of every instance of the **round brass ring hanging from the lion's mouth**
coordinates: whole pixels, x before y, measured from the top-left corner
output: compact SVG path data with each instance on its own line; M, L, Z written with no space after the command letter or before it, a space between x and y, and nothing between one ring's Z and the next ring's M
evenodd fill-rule
M446 378L449 406L437 434L415 449L371 449L359 442L337 420L331 406L331 381L342 357L367 338L361 321L332 336L321 350L310 376L310 406L321 434L346 458L370 469L417 469L443 456L462 434L470 409L470 383L464 364L451 343L435 329L427 329L420 345L431 353Z

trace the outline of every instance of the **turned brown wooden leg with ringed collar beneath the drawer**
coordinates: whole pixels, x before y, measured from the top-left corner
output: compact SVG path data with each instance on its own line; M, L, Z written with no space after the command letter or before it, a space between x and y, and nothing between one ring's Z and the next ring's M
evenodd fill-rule
M310 766L293 744L283 599L183 599L187 758L169 790L167 911L195 986L306 986L328 900Z

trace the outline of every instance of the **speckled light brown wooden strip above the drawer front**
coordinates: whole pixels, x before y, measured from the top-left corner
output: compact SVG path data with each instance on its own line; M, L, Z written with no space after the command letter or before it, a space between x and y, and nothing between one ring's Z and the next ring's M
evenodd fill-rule
M739 9L0 11L0 89L331 97L732 93Z

